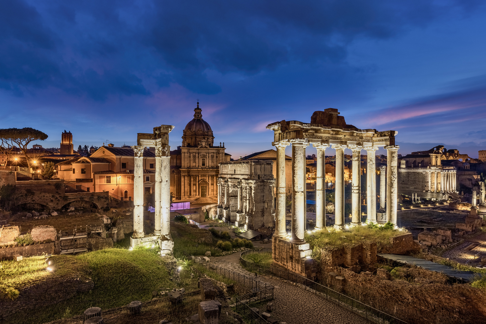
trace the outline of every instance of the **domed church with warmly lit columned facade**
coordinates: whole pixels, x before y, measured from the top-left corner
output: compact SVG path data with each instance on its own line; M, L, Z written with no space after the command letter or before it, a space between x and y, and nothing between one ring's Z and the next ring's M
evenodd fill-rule
M194 118L182 133L182 145L171 151L171 193L173 201L192 203L218 201L217 179L220 162L229 161L221 142L214 145L214 136L208 122L203 119L199 102Z

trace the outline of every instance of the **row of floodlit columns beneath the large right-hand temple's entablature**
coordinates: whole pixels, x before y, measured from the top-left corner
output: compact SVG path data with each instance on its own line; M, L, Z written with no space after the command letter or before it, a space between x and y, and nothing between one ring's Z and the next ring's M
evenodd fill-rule
M309 145L308 139L291 139L289 141L274 142L277 148L277 206L276 206L276 237L285 237L285 147L292 143L292 232L291 238L295 243L304 241L306 197L305 197L305 148ZM325 223L325 149L329 144L313 144L317 149L317 177L316 177L316 229L322 229ZM344 150L347 145L333 144L336 150L335 166L335 226L344 226L345 207L345 183L344 183ZM361 224L361 150L359 146L349 146L353 152L353 177L352 177L352 224ZM378 147L364 148L368 153L367 164L367 205L368 221L376 220L376 170L375 152ZM385 171L382 170L380 188L380 208L387 212L387 221L397 224L397 199L398 199L398 149L399 146L385 147L388 155L387 181ZM385 184L387 186L385 187ZM386 188L386 189L385 189ZM385 193L386 192L386 193ZM386 195L386 205L385 205Z

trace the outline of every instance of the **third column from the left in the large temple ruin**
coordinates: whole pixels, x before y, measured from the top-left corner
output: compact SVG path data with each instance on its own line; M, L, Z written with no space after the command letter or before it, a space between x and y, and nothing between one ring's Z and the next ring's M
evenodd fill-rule
M317 149L317 171L315 179L315 229L326 226L326 148L329 144L312 144ZM354 171L354 170L353 170Z

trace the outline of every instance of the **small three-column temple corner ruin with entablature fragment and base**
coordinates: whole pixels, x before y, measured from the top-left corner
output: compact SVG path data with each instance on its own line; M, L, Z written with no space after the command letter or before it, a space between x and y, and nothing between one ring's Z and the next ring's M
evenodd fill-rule
M171 156L169 133L172 125L154 127L154 133L137 134L137 146L132 146L135 155L134 168L134 213L133 235L130 246L158 243L160 253L172 253L174 241L170 234L170 170ZM155 174L155 230L153 235L145 236L143 229L143 152L145 147L154 147L156 155Z

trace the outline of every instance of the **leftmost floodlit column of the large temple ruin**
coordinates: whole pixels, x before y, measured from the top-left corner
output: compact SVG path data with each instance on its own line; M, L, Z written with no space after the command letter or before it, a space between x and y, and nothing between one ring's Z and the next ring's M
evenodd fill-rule
M275 210L274 236L284 238L287 235L285 229L285 147L290 143L280 141L272 144L277 149L277 207Z

